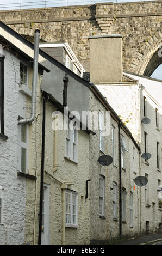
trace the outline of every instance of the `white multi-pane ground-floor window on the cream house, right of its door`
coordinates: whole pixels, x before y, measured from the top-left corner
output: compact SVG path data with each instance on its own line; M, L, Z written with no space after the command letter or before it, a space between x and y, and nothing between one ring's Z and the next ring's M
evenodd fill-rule
M70 197L70 202L67 203L66 196ZM73 196L76 198L76 204L73 204ZM70 205L69 211L67 212L67 204ZM74 207L76 212L74 212ZM70 221L67 222L67 214L70 215ZM76 216L76 220L73 223L72 216ZM78 228L78 193L73 190L65 190L65 227L68 228Z

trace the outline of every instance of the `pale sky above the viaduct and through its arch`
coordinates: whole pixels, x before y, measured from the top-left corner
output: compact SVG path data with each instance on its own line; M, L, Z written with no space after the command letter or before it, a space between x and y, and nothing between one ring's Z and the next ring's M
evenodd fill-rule
M135 0L117 0L117 2L133 2ZM94 4L96 2L115 2L116 0L47 0L46 7L52 6L66 6L68 5L78 5L78 4ZM43 0L0 0L0 10L9 9L20 9L20 3L22 3L22 9L24 8L43 8L45 7L45 1ZM4 8L5 7L5 8ZM153 72L151 75L153 78L162 80L162 64Z

